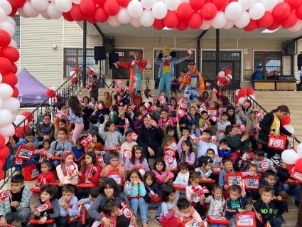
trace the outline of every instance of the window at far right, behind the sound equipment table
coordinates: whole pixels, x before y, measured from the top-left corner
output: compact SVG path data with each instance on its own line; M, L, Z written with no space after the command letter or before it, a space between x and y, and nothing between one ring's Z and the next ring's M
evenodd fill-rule
M276 70L278 75L282 75L282 51L255 51L254 52L254 71L258 66L262 66L264 78L272 75Z

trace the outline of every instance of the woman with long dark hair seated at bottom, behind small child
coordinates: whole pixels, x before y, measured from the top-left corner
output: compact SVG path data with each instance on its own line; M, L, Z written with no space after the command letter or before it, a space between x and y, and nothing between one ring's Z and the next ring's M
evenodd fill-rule
M118 208L122 208L122 203L130 207L129 200L126 198L126 195L119 191L117 182L115 182L112 178L106 179L101 186L101 194L97 196L97 199L95 199L88 210L88 215L90 217L89 226L92 226L94 221L102 221L102 223L104 223L104 227L110 226L110 219L105 218L100 214L100 212L102 212L104 209L104 204L108 200L113 200L114 203L117 204ZM134 224L134 216L131 218L131 220L127 219L124 215L117 217L117 227L129 226L130 222Z

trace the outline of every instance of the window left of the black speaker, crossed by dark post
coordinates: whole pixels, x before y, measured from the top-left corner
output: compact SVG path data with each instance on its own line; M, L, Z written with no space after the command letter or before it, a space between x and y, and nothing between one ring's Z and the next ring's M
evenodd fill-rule
M95 50L87 48L86 65L95 68ZM83 48L64 48L64 77L69 77L72 68L80 68L83 65Z

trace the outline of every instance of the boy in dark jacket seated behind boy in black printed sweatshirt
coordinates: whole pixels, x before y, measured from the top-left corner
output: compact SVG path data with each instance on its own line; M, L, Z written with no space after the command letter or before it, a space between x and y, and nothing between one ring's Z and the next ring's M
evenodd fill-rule
M282 222L284 222L284 218L282 214L287 211L288 204L286 201L282 201L287 198L287 194L284 191L283 184L276 180L276 172L271 169L266 170L264 173L264 177L261 178L260 187L270 186L271 189L274 189L273 202L275 204L275 208L278 209L276 213L277 218L281 218Z

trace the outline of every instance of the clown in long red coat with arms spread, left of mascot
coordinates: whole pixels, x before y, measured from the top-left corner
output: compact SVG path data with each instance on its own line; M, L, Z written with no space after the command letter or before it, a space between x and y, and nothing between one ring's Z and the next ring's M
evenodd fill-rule
M148 63L147 60L139 60L139 58L141 58L141 53L135 52L134 60L131 60L130 62L117 61L114 63L122 66L123 68L130 68L129 90L134 90L134 83L136 83L135 94L141 90L141 86L143 84L143 69ZM135 81L134 76L138 78L137 81Z

